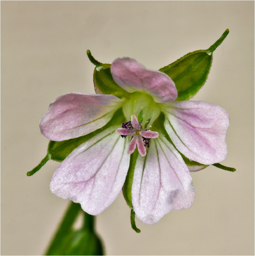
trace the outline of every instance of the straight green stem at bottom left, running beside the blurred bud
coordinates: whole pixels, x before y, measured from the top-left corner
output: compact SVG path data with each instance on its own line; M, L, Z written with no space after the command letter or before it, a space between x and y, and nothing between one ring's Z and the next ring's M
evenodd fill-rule
M61 244L63 237L71 230L80 209L80 204L71 202L45 255L56 255L55 252L58 250L58 244Z

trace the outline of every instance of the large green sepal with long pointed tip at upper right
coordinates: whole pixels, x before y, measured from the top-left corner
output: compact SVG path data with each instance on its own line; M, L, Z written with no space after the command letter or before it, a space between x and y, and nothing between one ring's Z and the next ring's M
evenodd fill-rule
M207 50L190 52L159 69L174 81L178 91L176 100L189 100L205 84L212 65L212 53L229 34L229 29Z

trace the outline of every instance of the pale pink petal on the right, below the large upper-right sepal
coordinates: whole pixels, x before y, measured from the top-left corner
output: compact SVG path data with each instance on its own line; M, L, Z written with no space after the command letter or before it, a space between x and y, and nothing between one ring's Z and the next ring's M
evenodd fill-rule
M164 126L176 148L201 164L226 158L229 115L221 107L203 101L175 101L163 110Z

